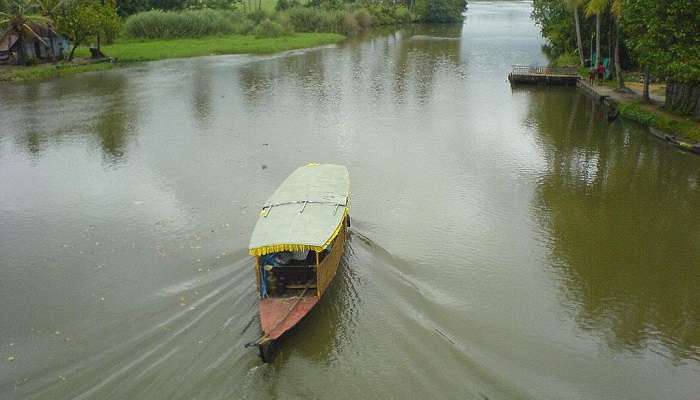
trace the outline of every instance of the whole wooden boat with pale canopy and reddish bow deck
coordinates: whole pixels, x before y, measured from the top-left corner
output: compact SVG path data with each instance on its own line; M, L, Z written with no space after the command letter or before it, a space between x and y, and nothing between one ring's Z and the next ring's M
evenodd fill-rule
M338 270L350 223L348 170L309 164L294 171L267 200L250 239L255 257L263 361L275 342L306 316Z

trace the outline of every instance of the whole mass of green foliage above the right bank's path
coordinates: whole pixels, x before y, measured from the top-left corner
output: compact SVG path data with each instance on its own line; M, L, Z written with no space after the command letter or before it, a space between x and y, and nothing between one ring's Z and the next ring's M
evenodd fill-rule
M590 59L613 58L618 87L624 86L622 67L638 67L645 72L646 99L653 74L667 83L667 109L700 118L700 1L534 0L533 6L555 60L571 61L572 51L583 60L593 54L595 38ZM579 9L585 10L581 17ZM590 42L577 43L577 22Z

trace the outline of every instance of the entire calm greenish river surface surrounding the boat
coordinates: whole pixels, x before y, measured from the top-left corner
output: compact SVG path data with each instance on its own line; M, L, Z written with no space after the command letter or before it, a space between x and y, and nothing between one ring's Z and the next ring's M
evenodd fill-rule
M700 157L462 27L0 85L2 399L697 399ZM273 364L248 240L344 164L334 286Z

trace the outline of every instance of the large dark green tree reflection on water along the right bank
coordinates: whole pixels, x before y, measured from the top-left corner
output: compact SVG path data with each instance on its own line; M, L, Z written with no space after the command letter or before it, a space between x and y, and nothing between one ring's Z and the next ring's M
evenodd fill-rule
M700 359L697 160L630 123L598 123L603 110L582 95L532 97L528 123L548 155L535 207L578 324L616 351L660 341Z

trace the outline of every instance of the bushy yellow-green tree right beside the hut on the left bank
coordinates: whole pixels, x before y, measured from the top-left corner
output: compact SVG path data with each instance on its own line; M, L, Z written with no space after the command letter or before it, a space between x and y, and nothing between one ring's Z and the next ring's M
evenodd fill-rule
M112 1L100 4L99 0L69 0L61 4L56 12L56 23L60 32L72 42L68 60L72 60L75 49L89 38L104 35L113 37L119 30L121 20Z

